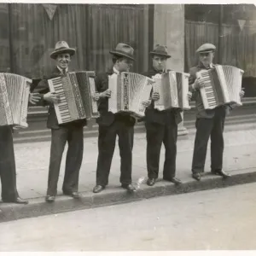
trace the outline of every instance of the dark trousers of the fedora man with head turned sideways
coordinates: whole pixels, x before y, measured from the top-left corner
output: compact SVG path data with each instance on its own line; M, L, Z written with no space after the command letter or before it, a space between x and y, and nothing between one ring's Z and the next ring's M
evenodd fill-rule
M98 160L96 169L96 184L108 185L108 177L113 159L113 151L117 135L119 136L119 154L121 159L120 183L131 184L131 165L134 126L124 121L114 120L112 125L99 125Z

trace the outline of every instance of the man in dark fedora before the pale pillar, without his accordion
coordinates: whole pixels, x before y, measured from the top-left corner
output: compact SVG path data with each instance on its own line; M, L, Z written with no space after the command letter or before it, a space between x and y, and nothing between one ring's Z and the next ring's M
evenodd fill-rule
M166 46L157 44L153 51L152 69L144 75L154 79L154 76L166 73L166 61L168 55ZM177 125L182 121L181 110L168 109L159 111L154 109L154 102L160 99L157 92L151 93L151 101L145 111L145 127L147 131L147 168L148 186L153 186L159 176L160 149L162 143L166 148L166 159L163 170L163 178L175 184L181 183L176 174L176 154L177 154Z

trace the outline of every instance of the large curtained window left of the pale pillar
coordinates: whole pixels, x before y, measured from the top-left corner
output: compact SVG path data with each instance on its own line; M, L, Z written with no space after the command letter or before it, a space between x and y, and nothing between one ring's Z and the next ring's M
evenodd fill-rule
M120 42L135 49L135 72L148 69L146 4L57 4L49 18L43 4L3 3L0 13L0 50L6 54L0 61L3 72L10 69L31 79L43 77L54 66L49 54L60 40L77 49L73 69L108 69L109 50Z

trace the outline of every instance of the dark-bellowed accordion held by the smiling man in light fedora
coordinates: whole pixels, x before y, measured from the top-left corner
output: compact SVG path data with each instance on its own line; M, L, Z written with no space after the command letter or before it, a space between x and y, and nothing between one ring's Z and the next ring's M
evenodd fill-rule
M50 92L60 96L60 102L54 103L59 124L99 116L91 97L96 91L94 78L95 72L81 71L48 80Z

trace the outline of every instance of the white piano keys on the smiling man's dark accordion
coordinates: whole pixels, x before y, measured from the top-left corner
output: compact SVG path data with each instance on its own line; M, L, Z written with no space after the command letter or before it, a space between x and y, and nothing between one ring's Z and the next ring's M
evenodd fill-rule
M60 96L60 103L58 104L60 112L56 114L60 114L62 122L67 122L70 119L70 113L61 78L52 79L52 83L55 88L55 93Z

